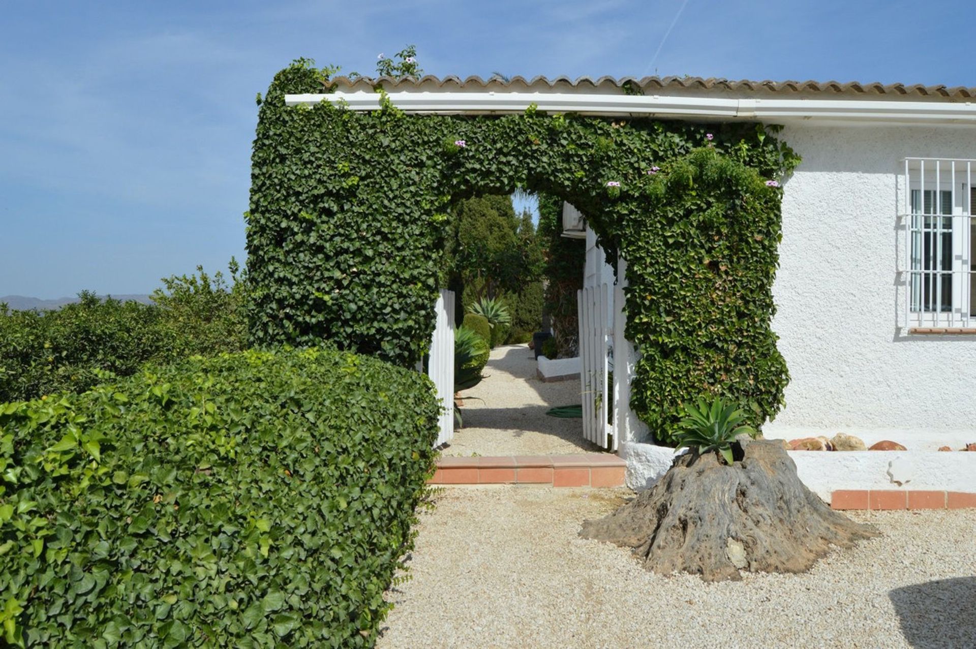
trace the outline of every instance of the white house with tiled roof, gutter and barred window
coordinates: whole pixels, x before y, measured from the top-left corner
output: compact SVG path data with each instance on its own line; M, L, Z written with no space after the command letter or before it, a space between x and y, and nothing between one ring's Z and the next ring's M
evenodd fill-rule
M427 76L341 80L334 95L286 101L376 109L374 82L408 112L494 114L535 103L784 125L781 137L802 162L784 184L773 327L792 379L767 436L844 431L932 451L976 441L976 88ZM643 94L625 93L625 82ZM612 430L623 448L642 430L627 407L623 370L633 352L615 293Z

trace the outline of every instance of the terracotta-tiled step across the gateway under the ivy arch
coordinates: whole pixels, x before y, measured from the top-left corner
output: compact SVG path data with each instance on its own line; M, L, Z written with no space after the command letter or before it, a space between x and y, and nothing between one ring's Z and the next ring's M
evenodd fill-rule
M452 458L437 461L429 484L543 484L622 487L627 463L611 453Z

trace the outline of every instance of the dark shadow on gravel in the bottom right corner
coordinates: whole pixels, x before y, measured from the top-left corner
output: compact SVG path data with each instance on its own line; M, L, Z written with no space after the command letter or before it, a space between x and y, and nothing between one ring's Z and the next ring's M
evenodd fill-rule
M976 577L956 577L888 592L902 633L918 649L976 647Z

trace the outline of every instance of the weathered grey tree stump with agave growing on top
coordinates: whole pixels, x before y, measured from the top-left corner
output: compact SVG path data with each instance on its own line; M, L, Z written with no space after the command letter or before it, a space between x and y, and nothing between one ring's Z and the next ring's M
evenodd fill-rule
M800 482L780 441L733 445L737 460L688 453L653 488L580 535L633 548L644 567L684 571L707 582L742 579L740 570L799 573L830 547L850 548L879 533L824 504Z

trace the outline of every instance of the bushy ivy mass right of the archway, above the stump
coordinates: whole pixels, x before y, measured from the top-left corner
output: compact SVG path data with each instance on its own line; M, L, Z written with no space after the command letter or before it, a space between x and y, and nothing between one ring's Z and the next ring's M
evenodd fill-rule
M674 443L678 407L708 393L775 416L789 381L769 326L780 193L754 170L699 149L648 191L654 219L625 229L627 337L640 349L631 404Z

